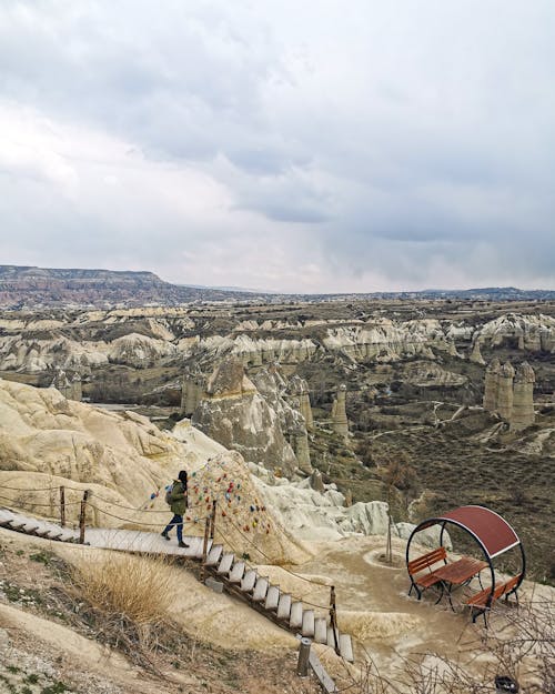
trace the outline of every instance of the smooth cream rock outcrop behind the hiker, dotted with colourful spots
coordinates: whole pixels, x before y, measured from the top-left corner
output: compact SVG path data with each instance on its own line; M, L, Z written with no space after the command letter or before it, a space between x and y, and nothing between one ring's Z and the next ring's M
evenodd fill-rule
M133 412L107 412L68 401L53 388L0 379L0 489L2 503L14 510L59 519L64 485L67 517L74 522L89 489L88 526L152 531L169 519L163 487L183 467L190 472L191 512L202 516L206 496L220 504L218 542L250 552L255 561L306 559L307 550L273 510L262 507L241 455L188 420L162 432ZM263 555L254 555L253 546Z

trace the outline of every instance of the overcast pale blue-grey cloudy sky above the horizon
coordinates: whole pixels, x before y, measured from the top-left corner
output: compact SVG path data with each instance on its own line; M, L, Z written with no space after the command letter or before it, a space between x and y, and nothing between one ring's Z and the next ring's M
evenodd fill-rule
M0 264L555 289L553 0L1 0Z

